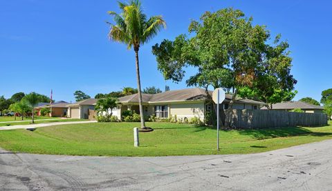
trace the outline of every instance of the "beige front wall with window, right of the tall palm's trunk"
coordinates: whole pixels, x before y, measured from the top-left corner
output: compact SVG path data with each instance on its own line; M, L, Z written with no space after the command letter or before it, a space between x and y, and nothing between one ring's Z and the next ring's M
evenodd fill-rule
M190 119L192 117L199 117L204 121L204 103L178 103L169 104L169 115L176 115L177 118Z

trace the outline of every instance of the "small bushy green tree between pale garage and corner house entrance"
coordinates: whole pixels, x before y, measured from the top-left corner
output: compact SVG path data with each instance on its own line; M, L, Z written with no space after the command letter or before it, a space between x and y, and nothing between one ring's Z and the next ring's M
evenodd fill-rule
M103 99L98 99L95 110L97 110L98 114L105 114L107 119L112 116L113 108L116 108L118 105L118 99L113 97L106 97Z

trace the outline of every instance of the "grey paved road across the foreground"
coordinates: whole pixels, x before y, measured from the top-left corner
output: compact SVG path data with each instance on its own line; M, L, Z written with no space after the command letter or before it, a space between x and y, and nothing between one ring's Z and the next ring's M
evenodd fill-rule
M71 157L0 150L1 190L332 190L332 140L259 154Z

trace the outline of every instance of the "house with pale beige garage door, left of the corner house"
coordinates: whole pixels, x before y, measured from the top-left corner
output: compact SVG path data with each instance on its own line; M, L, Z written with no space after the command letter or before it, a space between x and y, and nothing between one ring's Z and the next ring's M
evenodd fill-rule
M95 110L98 99L85 99L76 103L68 104L68 117L73 119L89 119L89 110Z

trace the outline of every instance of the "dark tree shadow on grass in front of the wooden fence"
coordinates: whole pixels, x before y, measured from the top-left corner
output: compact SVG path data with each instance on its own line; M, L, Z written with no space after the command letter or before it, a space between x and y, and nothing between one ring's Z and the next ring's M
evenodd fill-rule
M293 128L270 128L262 130L238 130L239 134L248 135L255 139L271 139L276 137L294 137L311 135L315 137L332 136L332 132L313 132L299 127Z

